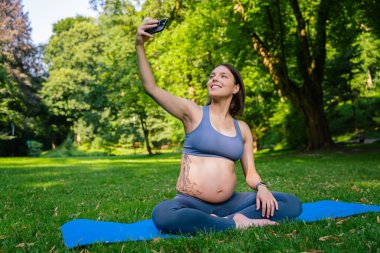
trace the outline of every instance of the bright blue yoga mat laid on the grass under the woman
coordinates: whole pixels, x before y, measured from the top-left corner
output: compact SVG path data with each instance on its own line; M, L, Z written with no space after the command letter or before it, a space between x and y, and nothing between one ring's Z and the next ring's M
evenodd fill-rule
M304 203L302 204L302 208L303 212L297 220L305 222L347 217L367 212L380 212L380 206L332 200ZM142 220L135 223L118 223L77 219L63 224L62 235L64 243L68 248L101 242L113 243L177 237L176 235L161 234L154 226L152 220Z

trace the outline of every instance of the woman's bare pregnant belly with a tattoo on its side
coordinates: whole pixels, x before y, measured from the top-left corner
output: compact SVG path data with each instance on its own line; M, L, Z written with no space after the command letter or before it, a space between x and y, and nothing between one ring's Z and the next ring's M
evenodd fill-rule
M177 190L210 202L228 200L236 187L235 164L219 157L182 155Z

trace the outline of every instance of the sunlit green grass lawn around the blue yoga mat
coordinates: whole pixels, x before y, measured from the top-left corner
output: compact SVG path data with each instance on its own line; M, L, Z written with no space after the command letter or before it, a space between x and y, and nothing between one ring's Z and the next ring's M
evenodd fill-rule
M380 204L380 145L319 153L265 153L256 167L273 191L303 202ZM380 252L379 213L315 223L96 244L68 250L61 225L76 218L135 222L172 198L180 154L0 159L0 252ZM240 165L238 191L248 191Z

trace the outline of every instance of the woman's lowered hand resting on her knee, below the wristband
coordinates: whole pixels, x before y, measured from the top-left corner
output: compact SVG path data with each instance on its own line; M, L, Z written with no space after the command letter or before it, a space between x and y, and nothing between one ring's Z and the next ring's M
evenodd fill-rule
M256 196L256 210L259 210L261 207L261 215L266 217L274 215L274 211L278 210L277 200L273 197L273 194L268 190L266 186L259 186Z

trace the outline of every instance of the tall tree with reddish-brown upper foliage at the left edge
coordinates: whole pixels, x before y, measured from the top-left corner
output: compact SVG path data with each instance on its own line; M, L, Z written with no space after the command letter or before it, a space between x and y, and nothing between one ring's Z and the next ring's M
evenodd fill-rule
M43 109L36 96L41 82L39 52L21 1L1 1L0 10L0 153L25 154L26 145L18 142L42 138Z

